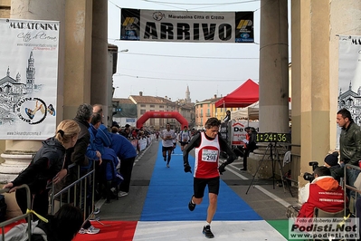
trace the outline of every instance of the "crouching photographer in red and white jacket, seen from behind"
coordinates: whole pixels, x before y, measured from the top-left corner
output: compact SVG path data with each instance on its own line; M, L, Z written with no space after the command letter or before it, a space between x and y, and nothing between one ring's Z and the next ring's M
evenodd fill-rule
M299 190L302 207L298 217L313 217L315 207L336 213L344 209L345 193L337 180L331 176L327 167L318 167L314 170L312 182Z

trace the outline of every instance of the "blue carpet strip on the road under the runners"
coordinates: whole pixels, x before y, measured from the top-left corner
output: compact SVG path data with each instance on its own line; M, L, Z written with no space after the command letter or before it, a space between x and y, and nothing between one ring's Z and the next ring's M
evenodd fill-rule
M194 170L195 158L189 155L189 163ZM140 221L185 221L205 220L208 207L208 189L204 191L202 204L193 212L188 202L193 195L193 173L185 173L183 154L179 146L172 154L170 168L162 156L162 144L159 141L156 166L147 191ZM218 207L214 221L262 220L231 188L222 180L218 196Z

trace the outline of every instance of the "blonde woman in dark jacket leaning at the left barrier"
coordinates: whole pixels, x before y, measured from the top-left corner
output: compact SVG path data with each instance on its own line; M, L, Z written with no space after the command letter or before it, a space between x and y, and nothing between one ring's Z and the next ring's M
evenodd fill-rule
M9 192L15 192L16 202L25 214L27 209L26 190L18 186L27 184L31 191L33 210L41 216L48 214L48 185L58 183L67 174L64 168L65 150L72 148L81 131L74 120L62 120L56 129L55 136L44 140L30 165L12 182L5 184Z

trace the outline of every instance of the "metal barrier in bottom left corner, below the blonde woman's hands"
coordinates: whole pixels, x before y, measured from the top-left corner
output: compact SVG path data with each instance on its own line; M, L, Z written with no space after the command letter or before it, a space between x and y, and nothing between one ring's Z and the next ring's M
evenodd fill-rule
M24 185L21 185L18 187L19 188L25 188L26 189L26 203L27 203L27 209L31 209L31 205L32 205L32 202L31 202L31 198L30 198L30 189L29 187L24 184ZM0 194L1 193L5 193L5 192L8 192L10 190L10 188L4 188L4 189L0 189ZM13 217L11 219L8 219L2 223L0 223L0 227L1 227L1 231L2 231L2 239L1 240L5 240L5 227L16 222L16 221L19 221L21 219L24 219L24 218L27 218L27 223L28 223L28 240L31 241L31 238L32 238L32 213L28 212L26 214L23 214L23 215L20 215L18 217Z

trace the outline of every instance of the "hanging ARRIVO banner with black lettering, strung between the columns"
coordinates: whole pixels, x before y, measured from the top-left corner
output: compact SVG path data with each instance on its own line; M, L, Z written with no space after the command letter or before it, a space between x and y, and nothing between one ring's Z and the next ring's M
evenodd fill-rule
M253 43L253 12L121 9L120 39L130 41Z

